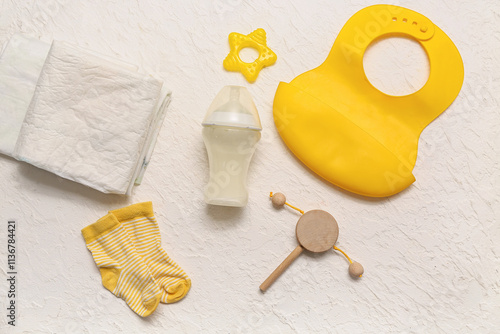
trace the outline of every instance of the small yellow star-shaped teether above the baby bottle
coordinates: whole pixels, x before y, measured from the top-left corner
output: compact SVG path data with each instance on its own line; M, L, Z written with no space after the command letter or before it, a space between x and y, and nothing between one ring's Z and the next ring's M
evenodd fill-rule
M271 66L278 57L267 47L266 32L259 28L248 35L237 32L229 34L229 47L231 51L222 63L228 71L241 72L248 82L254 82L260 70L265 66ZM259 57L253 63L245 63L240 58L240 51L243 48L251 47L259 52Z

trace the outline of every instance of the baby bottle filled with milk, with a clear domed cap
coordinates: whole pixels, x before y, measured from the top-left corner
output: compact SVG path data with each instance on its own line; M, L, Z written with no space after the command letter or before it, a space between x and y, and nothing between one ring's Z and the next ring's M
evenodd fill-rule
M247 172L260 139L259 113L245 87L226 86L217 94L203 120L210 180L205 202L245 206Z

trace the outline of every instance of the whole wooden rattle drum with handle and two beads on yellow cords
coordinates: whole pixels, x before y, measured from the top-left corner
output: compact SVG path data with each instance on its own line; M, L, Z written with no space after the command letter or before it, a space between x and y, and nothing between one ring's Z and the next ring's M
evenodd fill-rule
M286 204L302 213L302 217L299 218L295 228L295 235L299 245L260 285L260 290L265 292L304 249L313 253L322 253L333 248L344 254L349 260L349 275L354 278L361 277L364 272L363 266L358 262L353 262L346 253L335 246L339 237L339 226L331 214L323 210L311 210L304 213L299 208L288 204L285 195L282 193L273 195L271 192L270 197L274 206L282 207Z

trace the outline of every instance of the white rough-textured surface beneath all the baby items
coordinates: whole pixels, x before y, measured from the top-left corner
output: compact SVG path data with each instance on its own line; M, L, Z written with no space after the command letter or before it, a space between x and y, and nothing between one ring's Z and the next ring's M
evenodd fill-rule
M72 42L139 64L166 80L173 102L144 183L131 197L101 194L0 157L0 332L18 333L498 333L500 331L498 2L401 1L455 42L465 82L422 134L417 181L388 199L342 191L309 172L272 120L279 81L318 66L347 19L374 1L0 1L0 43L15 32ZM264 28L277 63L256 83L223 70L227 35ZM393 47L395 44L391 44ZM389 47L391 46L389 45ZM385 55L391 55L388 50ZM412 54L371 73L414 82ZM374 61L384 59L374 57ZM406 65L405 65L406 64ZM425 65L425 64L424 64ZM389 77L391 78L391 77ZM208 207L200 122L227 84L249 88L263 138L243 209ZM387 89L399 87L385 80ZM360 280L327 252L302 255L262 294L260 283L295 247L292 210L324 209ZM102 287L80 229L109 209L152 200L164 248L193 280L187 297L147 319ZM6 325L6 220L18 221L17 327Z

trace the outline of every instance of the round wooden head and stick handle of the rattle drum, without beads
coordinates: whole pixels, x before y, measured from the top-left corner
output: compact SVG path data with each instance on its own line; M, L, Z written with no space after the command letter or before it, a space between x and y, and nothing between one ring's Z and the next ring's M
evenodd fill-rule
M299 245L260 285L262 291L266 291L304 249L321 253L333 248L339 237L339 226L328 212L311 210L300 217L295 228L295 235Z

